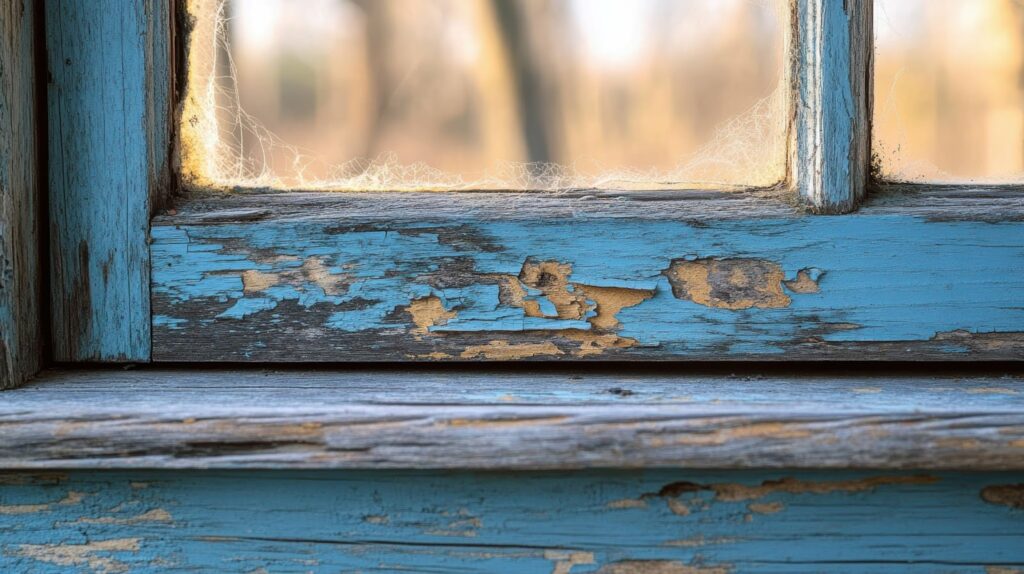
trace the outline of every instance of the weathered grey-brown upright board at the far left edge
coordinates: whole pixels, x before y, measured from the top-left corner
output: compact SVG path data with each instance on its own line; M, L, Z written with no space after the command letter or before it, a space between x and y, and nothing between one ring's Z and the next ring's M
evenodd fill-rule
M39 369L35 2L0 4L0 390Z

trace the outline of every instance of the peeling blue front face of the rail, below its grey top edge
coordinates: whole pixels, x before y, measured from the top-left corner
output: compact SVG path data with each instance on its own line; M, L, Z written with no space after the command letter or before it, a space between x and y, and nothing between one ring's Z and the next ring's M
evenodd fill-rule
M336 221L164 221L153 229L154 356L330 361L444 352L436 359L458 360L467 347L492 340L514 345L545 337L562 354L532 356L899 359L914 353L933 359L1024 352L1024 337L1011 333L1020 330L1024 308L1006 303L1021 299L1024 283L1013 274L986 275L1021 266L1017 224L867 215L700 227L675 220L587 223L375 220L328 232L339 227ZM478 236L494 249L476 242ZM897 236L909 242L893 252ZM667 249L695 255L673 265ZM283 256L295 260L275 262ZM346 270L355 261L358 268ZM344 297L316 286L315 263L352 276ZM299 272L303 264L312 280ZM986 278L949 290L948 269ZM267 281L249 277L246 290L246 270L298 275L254 292L256 282ZM427 296L458 317L432 327L436 337L425 343L404 337L417 327L401 309ZM215 320L240 300L254 301L223 315L238 320ZM318 333L296 338L298 325ZM613 332L635 343L575 353L562 337L569 328ZM254 338L263 346L250 344ZM330 344L308 344L313 340Z

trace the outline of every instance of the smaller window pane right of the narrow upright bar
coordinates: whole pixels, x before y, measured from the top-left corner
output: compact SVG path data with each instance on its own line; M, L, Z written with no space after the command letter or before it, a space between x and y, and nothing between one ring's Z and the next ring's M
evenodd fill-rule
M876 0L884 179L1024 181L1024 1Z

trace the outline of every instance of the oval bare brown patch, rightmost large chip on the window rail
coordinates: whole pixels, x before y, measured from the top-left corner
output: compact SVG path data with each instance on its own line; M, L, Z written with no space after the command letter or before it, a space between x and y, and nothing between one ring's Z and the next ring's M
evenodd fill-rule
M665 275L676 299L705 307L781 309L792 303L782 291L782 267L762 259L676 259Z

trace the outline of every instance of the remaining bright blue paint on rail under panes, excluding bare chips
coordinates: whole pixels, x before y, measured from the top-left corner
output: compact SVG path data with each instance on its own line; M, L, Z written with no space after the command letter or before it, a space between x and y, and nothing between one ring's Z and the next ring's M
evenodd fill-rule
M439 240L436 232L401 232L445 225L470 226L502 249L460 250ZM445 261L469 259L474 276L484 277L518 275L523 263L532 259L570 264L573 282L654 290L650 300L617 314L618 335L639 343L628 353L656 349L667 355L703 356L725 350L733 355L775 356L806 338L834 343L921 342L961 329L1024 330L1020 305L1024 276L1016 272L1024 269L1021 222L853 215L699 225L614 219L585 225L570 220L431 222L394 224L389 233L332 234L325 227L295 222L155 227L153 291L159 312L183 319L175 313L177 306L212 300L231 302L232 310L201 320L259 320L284 301L311 309L364 300L368 305L362 308L339 310L328 321L309 326L324 326L328 333L394 329L404 326L394 319L397 311L433 295L445 308L458 311L456 318L433 327L434 332L589 328L586 321L526 317L521 309L501 304L497 284L486 281L428 284L431 273ZM290 263L275 263L275 257ZM351 284L348 293L329 297L312 281L253 294L242 289L245 270L279 273L310 258L336 273L343 270ZM818 279L820 292L787 292L792 304L785 308L709 308L673 296L664 272L672 260L685 258L768 260L780 265L787 279L806 269ZM539 293L528 297L541 300ZM553 308L547 310L553 314ZM950 343L944 349L957 353L963 347Z

